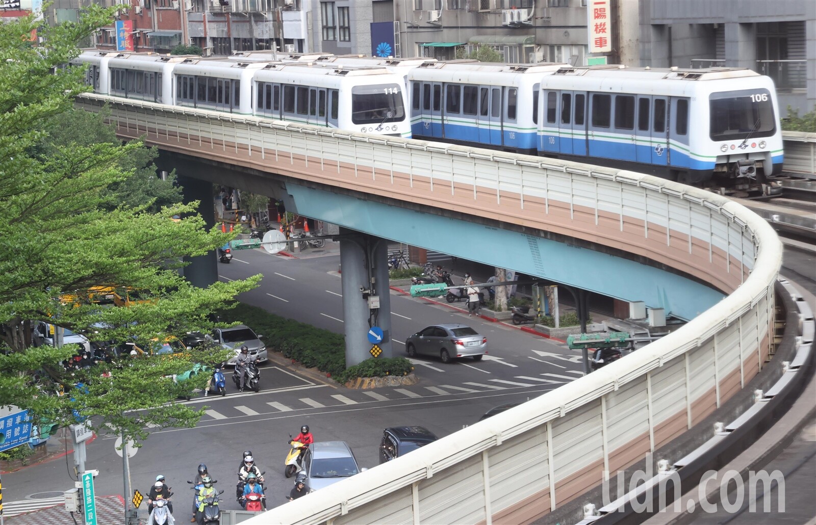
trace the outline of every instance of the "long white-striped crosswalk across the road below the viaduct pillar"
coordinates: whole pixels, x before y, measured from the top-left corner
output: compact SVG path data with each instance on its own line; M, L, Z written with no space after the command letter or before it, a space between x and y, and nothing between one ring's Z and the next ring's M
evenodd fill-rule
M418 399L443 395L457 394L477 394L485 392L495 392L498 390L512 390L526 388L530 386L553 387L563 385L583 376L578 370L565 370L564 373L542 373L538 376L516 376L515 381L506 379L486 379L483 382L463 382L460 385L438 385L438 386L406 386L403 388L381 388L373 390L346 390L344 394L330 394L329 389L312 390L312 397L303 397L283 404L279 401L268 401L263 408L255 404L255 408L245 405L224 407L219 404L216 408L207 408L202 421L217 421L233 417L260 416L263 414L274 414L281 412L297 412L312 408L344 407L357 404L374 403L379 401L398 401L400 399ZM215 398L220 399L220 398ZM228 398L226 398L228 399ZM243 402L252 398L241 398Z

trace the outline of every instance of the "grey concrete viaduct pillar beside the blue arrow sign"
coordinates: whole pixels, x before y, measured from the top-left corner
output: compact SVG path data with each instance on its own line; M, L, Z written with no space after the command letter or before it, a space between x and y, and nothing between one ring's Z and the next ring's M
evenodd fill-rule
M346 367L373 357L392 357L391 295L388 288L388 240L340 228L343 315L346 336ZM378 307L379 306L379 307ZM383 339L372 343L373 327L383 330Z

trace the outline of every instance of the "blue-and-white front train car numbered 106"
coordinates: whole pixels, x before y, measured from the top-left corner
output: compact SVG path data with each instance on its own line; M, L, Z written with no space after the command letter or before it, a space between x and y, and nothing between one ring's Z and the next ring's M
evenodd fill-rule
M564 67L540 85L539 154L771 195L774 83L743 68Z

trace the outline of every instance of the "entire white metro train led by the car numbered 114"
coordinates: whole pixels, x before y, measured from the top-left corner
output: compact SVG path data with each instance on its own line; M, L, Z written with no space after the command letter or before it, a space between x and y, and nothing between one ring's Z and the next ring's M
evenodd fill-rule
M410 138L405 80L378 66L98 50L72 64L100 95Z

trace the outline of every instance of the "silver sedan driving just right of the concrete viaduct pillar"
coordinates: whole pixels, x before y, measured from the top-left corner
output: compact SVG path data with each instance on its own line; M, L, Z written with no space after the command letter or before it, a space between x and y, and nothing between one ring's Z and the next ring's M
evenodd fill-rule
M432 324L406 339L406 351L415 355L438 355L443 363L457 357L481 360L487 353L487 337L467 324Z

